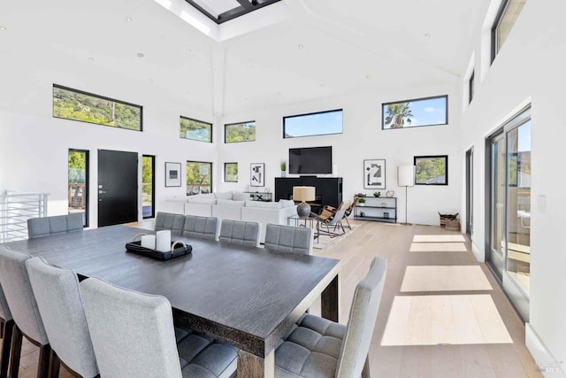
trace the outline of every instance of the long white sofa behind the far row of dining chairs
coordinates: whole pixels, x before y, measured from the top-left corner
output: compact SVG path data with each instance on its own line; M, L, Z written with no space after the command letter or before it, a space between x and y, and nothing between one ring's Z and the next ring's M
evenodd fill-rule
M160 211L257 222L261 225L260 241L264 243L267 224L287 225L288 218L296 215L297 206L288 200L250 201L249 196L241 192L220 192L188 196L185 200L168 199Z

